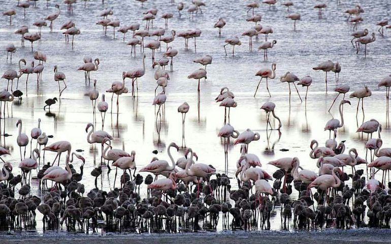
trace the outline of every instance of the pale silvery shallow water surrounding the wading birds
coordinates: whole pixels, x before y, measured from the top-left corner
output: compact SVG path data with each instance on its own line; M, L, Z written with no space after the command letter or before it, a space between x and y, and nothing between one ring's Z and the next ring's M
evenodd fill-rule
M282 157L299 157L304 168L317 172L316 161L308 157L310 141L317 139L322 145L329 138L329 133L323 132L325 123L332 116L339 118L336 105L331 114L327 111L336 96L333 92L334 73L329 74L329 92L325 93L324 72L312 70L313 66L328 59L338 61L342 66L339 76L340 84L349 84L351 91L363 87L364 84L372 89L372 97L365 99L364 102L365 118L359 111L356 120L356 100L351 100L351 106L344 106L345 127L338 131L337 140L346 140L347 150L354 147L359 151L359 155L365 158L366 136L364 135L363 139L361 134L355 133L355 130L357 124L361 125L364 120L375 118L383 125L383 147L388 146L390 133L385 92L384 88L377 88L377 83L388 75L386 67L390 63L389 32L385 31L385 37L376 35L377 40L368 45L367 57L362 51L356 54L350 44L352 24L345 21L347 16L343 14L343 10L353 7L353 4L342 3L336 6L335 1L327 1L328 8L323 12L323 18L318 19L317 11L313 9L316 1L295 1L291 12L299 12L302 15L302 20L297 23L296 32L292 30L293 22L283 17L286 15L285 7L278 3L276 10L270 11L267 6L261 4L255 11L263 16L260 24L271 25L274 33L269 36L269 39L277 40L276 46L268 52L268 61L264 61L263 52L256 50L262 41L255 42L254 49L249 51L248 38L241 38L242 45L235 48L235 56L230 55L232 47L227 46L229 53L227 56L222 47L225 38L240 36L253 25L245 21L246 1L207 1L207 7L203 8L204 14L194 16L194 20L189 19L185 11L179 18L176 6L169 5L169 2L148 1L143 9L141 4L135 1L105 1L105 6L101 5L101 1L88 2L87 9L84 9L84 3L80 2L74 6L74 13L70 15L66 12L66 5L60 1L50 1L49 9L46 9L46 1L38 1L37 8L30 7L26 11L26 19L23 19L23 11L15 7L16 1L0 1L3 11L10 8L16 8L17 11L17 15L12 20L12 26L9 26L9 19L5 16L0 19L2 26L0 46L5 47L9 43L14 43L17 47L12 64L6 64L6 52L0 54L0 60L3 60L0 70L3 72L8 69L17 70L19 58L25 58L27 63L33 60L29 42L25 42L25 47L20 47L20 36L14 34L15 29L24 24L29 26L30 33L34 33L38 29L31 26L32 22L55 12L55 3L60 5L62 11L53 22L53 32L50 33L49 28L44 27L42 39L34 43L34 50L47 54L43 81L37 87L36 76L30 76L28 97L23 96L20 104L14 102L13 105L8 105L7 111L10 117L6 118L5 131L12 136L3 137L2 145L5 143L5 146L11 150L12 156L5 157L5 159L12 162L15 175L18 173L17 165L20 162L19 148L16 144L16 121L18 118L22 119L22 131L29 135L30 129L36 127L38 118L41 118L43 132L54 136L49 139L49 144L59 140L68 140L72 143L73 150L84 150L82 155L86 158L86 164L81 182L85 185L86 192L94 187L94 178L90 176L90 172L100 164L100 146L91 146L86 142L85 126L92 122L92 111L89 98L84 96L92 85L85 86L83 72L77 71L77 68L83 64L85 55L100 58L99 70L91 72L91 79L97 79L97 89L102 94L104 90L110 88L113 81L121 81L122 71L142 67L142 54L139 52L139 47L136 58L131 57L130 47L122 42L120 33L116 33L116 39L113 40L111 27L108 28L108 36L105 37L102 27L95 24L100 19L97 15L104 8L113 8L114 15L109 18L119 19L121 25L138 22L143 27L145 22L141 21L141 13L147 8L156 7L159 11L154 26L164 27L164 19L161 19L160 15L168 11L174 13L174 17L169 20L169 30L175 29L178 32L195 27L202 30L201 37L197 39L197 52L194 51L192 40L189 41L189 50L184 49L182 38L176 37L175 41L170 44L178 49L179 53L174 58L174 72L170 72L171 79L167 87L168 99L160 133L157 133L155 126L156 108L151 105L155 81L149 49L145 49L146 74L140 79L138 98L133 99L130 93L121 95L118 115L110 114L109 108L104 130L115 137L114 148L123 148L128 152L136 151L138 169L148 164L155 156L152 154L154 149L159 151L157 157L168 160L166 146L171 142L181 144L181 115L177 113L177 107L186 101L190 105L190 111L186 116L186 146L197 151L199 162L212 164L218 172L224 172L223 144L217 137L219 129L223 126L224 109L214 102L214 98L221 87L228 86L235 93L235 101L238 103L238 107L231 111L230 123L239 132L250 128L261 135L259 141L250 143L249 153L254 153L260 158L266 171L273 173L276 170L275 167L267 165L268 161ZM368 28L370 33L378 34L375 23L387 17L391 4L388 1L359 2L365 9L365 13L362 14L365 21L359 25L359 29ZM189 1L185 2L185 6L189 4ZM213 28L213 24L220 16L227 24L222 29L222 36L218 37L218 31ZM75 37L74 50L71 44L64 42L62 32L59 31L59 27L67 20L73 20L81 29L81 35ZM166 35L171 34L167 32ZM126 39L130 36L131 34L128 33ZM260 36L260 40L263 38ZM145 43L154 39L154 37L146 38ZM165 47L165 45L162 46ZM157 59L161 57L161 53L156 51ZM206 54L213 56L213 63L207 68L208 79L201 81L201 105L198 114L197 81L187 79L187 75L201 68L200 65L192 63L192 60ZM257 97L253 98L258 82L254 74L260 68L270 67L271 63L277 63L276 79L270 80L269 83L272 98L267 96L264 82L260 85ZM42 109L44 101L58 97L57 83L53 80L54 65L66 74L68 88L64 91L59 103L52 106L51 113L47 113ZM309 88L307 105L305 102L300 103L293 87L289 105L287 84L281 83L278 79L287 71L295 73L300 78L305 75L312 76L314 82ZM22 76L20 85L23 93L25 93L24 80L25 76ZM129 83L126 85L130 88ZM305 88L299 87L299 90L304 99ZM106 100L110 104L110 94L107 94ZM259 110L259 107L267 101L276 103L276 114L280 116L283 124L280 136L277 131L267 132L265 130L266 116L263 111ZM101 127L99 113L96 127ZM236 171L236 160L240 155L239 148L239 145L229 147L227 172L230 177L234 177ZM282 148L288 151L280 151ZM26 153L28 154L29 152ZM175 159L183 157L183 149L173 155ZM45 161L51 162L54 156L54 153L46 153ZM61 164L64 164L64 157L61 159ZM79 171L80 162L74 163L74 166ZM103 169L103 190L109 191L113 188L114 173L112 171L108 175L107 169L105 167ZM36 172L32 172L32 176L35 174ZM147 174L143 175L145 177ZM235 179L231 180L231 184L233 189L237 188ZM41 195L38 191L38 182L32 180L31 185L31 194ZM146 188L144 185L143 187L142 192L145 195ZM291 197L296 198L297 193L292 194ZM42 232L41 219L38 215L36 229L38 232ZM217 227L218 231L221 230L220 224ZM279 228L280 221L277 214L277 218L272 221L272 229Z

